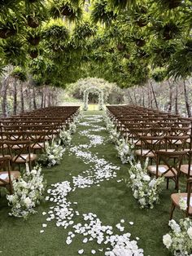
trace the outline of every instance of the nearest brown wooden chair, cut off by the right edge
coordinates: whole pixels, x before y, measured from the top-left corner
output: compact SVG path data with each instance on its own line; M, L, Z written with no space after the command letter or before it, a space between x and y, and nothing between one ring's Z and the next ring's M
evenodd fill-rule
M187 186L187 192L186 193L174 193L171 196L172 200L172 207L171 207L171 213L170 213L170 219L172 219L172 214L175 208L180 208L179 201L182 198L186 201L187 208L185 210L185 216L188 217L189 215L192 215L192 201L190 200L191 196L191 187L192 187L192 179L187 180L188 186Z

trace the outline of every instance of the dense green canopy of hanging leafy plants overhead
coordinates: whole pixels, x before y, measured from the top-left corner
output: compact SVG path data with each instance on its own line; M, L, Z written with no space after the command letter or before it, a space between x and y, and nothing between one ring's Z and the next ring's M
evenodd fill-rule
M39 86L100 77L122 88L191 74L190 0L3 0L0 9L0 73L13 65Z

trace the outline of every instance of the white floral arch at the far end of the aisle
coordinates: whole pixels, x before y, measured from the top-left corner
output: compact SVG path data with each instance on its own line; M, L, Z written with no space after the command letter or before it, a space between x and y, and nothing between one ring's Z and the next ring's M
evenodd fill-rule
M96 86L91 86L87 89L84 90L83 93L83 102L84 102L84 110L88 109L88 102L89 102L89 93L93 93L98 95L98 109L103 110L103 90L96 87Z

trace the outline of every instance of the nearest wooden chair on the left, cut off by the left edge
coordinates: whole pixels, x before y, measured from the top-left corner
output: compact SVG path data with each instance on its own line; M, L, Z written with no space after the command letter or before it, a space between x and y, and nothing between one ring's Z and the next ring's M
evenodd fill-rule
M10 170L10 159L0 157L0 187L7 188L10 194L13 193L12 179L19 179L20 171Z

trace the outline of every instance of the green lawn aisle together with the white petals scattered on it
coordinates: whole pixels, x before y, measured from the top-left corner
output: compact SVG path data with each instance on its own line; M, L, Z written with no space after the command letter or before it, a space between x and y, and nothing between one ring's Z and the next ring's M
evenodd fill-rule
M162 236L171 191L163 190L154 210L141 210L126 187L128 168L101 113L87 112L61 165L44 169L46 201L37 214L8 217L0 198L0 255L168 255Z

